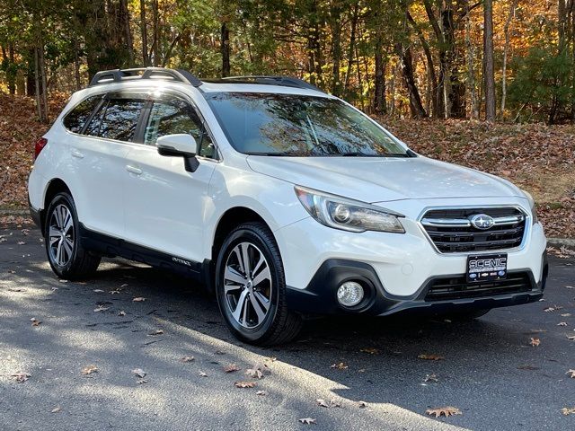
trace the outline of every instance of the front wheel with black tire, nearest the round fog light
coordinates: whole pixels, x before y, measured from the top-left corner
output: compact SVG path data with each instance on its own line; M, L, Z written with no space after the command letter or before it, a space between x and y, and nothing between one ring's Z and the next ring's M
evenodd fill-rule
M228 328L247 343L286 343L302 328L301 317L288 311L278 244L265 224L241 224L227 235L217 257L216 295Z

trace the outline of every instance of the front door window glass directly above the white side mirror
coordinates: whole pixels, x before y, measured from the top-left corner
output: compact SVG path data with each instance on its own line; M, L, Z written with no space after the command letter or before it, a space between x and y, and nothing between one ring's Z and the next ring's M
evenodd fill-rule
M198 114L190 104L178 99L155 101L146 125L144 143L155 145L155 141L160 136L182 133L191 135L196 139L199 145L199 155L202 157L214 156L214 145Z

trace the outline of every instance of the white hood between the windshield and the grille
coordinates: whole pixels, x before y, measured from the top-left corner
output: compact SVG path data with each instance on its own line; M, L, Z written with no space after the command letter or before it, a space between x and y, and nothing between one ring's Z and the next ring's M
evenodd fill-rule
M507 180L427 157L250 155L253 171L295 185L376 203L401 199L522 196Z

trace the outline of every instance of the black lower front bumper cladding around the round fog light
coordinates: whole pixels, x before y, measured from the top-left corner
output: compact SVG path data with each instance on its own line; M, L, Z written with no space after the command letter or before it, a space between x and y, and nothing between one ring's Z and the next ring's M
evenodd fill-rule
M529 269L509 271L509 281L483 285L459 283L464 277L462 275L431 277L414 295L405 297L386 292L376 270L371 266L351 260L330 259L323 263L305 289L288 287L288 307L296 312L312 314L359 313L385 316L405 311L435 314L533 303L543 296L548 272L546 254L542 257L542 267L539 281L535 281ZM338 303L336 294L338 287L349 280L359 282L366 293L363 301L351 308ZM445 286L456 286L458 290L446 295L448 299L438 299L437 294L431 295L436 286L443 287L444 292Z

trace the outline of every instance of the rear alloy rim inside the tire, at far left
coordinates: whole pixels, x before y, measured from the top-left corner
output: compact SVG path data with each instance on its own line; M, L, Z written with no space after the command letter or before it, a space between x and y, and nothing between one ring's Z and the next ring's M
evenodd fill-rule
M64 267L74 254L74 218L65 205L58 205L49 220L50 258L58 266Z

